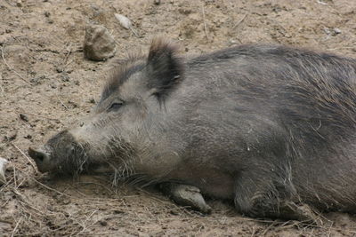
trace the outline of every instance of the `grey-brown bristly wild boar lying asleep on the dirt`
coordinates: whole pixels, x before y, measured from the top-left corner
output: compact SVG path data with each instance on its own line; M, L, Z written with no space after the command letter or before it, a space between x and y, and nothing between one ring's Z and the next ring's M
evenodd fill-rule
M249 217L355 212L355 92L355 59L280 45L183 58L157 38L117 65L89 118L28 154L42 172L162 184L203 212L204 196Z

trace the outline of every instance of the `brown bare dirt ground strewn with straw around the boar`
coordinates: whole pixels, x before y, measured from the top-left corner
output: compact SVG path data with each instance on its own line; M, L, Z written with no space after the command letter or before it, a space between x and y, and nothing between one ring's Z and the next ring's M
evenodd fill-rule
M90 112L113 59L84 59L85 25L101 24L115 59L167 36L182 53L239 43L284 43L356 57L356 1L350 0L0 0L0 236L353 236L356 217L328 213L324 225L242 217L208 201L202 216L155 190L102 178L51 180L28 160L38 146ZM114 13L133 20L122 28Z

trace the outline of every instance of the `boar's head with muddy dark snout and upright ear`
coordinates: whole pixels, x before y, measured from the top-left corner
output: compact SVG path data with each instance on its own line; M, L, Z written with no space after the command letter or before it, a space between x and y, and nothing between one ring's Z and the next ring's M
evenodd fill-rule
M158 140L165 137L165 101L182 78L174 44L155 39L148 57L132 56L114 69L92 115L28 154L38 170L57 174L114 171L129 177L169 169Z

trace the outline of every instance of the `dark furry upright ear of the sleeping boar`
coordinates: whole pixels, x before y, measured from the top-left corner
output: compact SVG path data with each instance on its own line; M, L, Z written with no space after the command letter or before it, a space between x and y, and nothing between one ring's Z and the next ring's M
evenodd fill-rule
M160 101L182 80L183 65L182 60L176 56L177 49L177 45L162 38L154 39L150 45L148 86L154 89Z

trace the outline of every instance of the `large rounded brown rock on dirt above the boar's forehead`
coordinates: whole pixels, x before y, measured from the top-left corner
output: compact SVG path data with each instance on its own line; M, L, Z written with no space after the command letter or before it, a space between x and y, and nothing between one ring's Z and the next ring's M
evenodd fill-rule
M85 28L84 55L86 59L103 61L115 55L114 38L107 28L100 25L88 25Z

